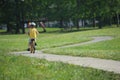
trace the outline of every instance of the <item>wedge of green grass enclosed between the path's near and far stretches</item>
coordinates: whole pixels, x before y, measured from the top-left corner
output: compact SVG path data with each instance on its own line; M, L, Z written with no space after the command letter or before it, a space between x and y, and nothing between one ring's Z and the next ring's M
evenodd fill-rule
M82 45L69 48L48 49L44 52L49 52L52 54L120 60L120 38L84 46Z

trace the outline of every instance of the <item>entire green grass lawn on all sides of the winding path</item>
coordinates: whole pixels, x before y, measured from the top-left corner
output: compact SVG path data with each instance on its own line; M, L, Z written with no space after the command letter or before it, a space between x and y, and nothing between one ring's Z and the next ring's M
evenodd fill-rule
M63 49L62 54L92 57L103 55L103 58L119 60L119 31L120 28L106 28L101 30L61 33L56 32L56 29L55 31L48 29L47 33L40 33L38 36L37 49L48 48L46 52L60 54L58 51L62 51L61 49L49 48L89 41L92 40L91 36L109 35L115 39L91 45L66 48ZM112 43L110 44L112 47L108 47L109 43ZM8 54L12 51L23 51L27 49L27 34L2 34L0 35L0 45L0 80L120 80L120 74L114 74L112 72ZM70 53L66 53L66 51ZM77 53L79 51L82 52ZM109 51L111 52L108 53ZM86 53L83 54L84 52ZM111 55L113 56L112 53L115 58L109 57ZM100 58L102 57L100 56Z

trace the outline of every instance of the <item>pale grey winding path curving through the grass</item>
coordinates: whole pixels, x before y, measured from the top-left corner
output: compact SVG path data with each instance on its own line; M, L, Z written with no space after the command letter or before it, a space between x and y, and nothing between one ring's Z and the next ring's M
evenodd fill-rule
M71 47L71 46L79 46L83 44L90 44L90 43L110 40L110 39L112 38L108 36L107 37L94 37L94 40L92 41L69 45L69 46L63 46L62 48ZM90 57L73 57L73 56L54 55L54 54L46 54L46 53L44 54L42 51L36 51L35 54L30 54L30 52L28 51L14 52L14 54L24 55L24 56L29 56L29 57L36 57L40 59L46 59L48 61L61 61L64 63L80 65L83 67L92 67L92 68L101 69L105 71L112 71L114 73L120 74L120 61L90 58Z

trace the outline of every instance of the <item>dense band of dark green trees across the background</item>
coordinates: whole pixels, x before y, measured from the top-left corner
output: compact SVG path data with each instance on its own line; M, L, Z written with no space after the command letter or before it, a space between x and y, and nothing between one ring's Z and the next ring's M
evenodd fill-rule
M119 26L119 0L1 0L0 24L7 24L7 32L25 33L24 23L28 21L58 21L60 27L72 20L77 29L79 21L92 21L92 26ZM96 24L98 21L98 25ZM84 25L83 25L84 26Z

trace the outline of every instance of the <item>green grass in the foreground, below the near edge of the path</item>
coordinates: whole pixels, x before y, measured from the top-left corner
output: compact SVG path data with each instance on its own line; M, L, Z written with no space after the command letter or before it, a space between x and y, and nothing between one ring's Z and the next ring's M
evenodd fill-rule
M120 74L61 62L0 54L0 80L119 80Z

